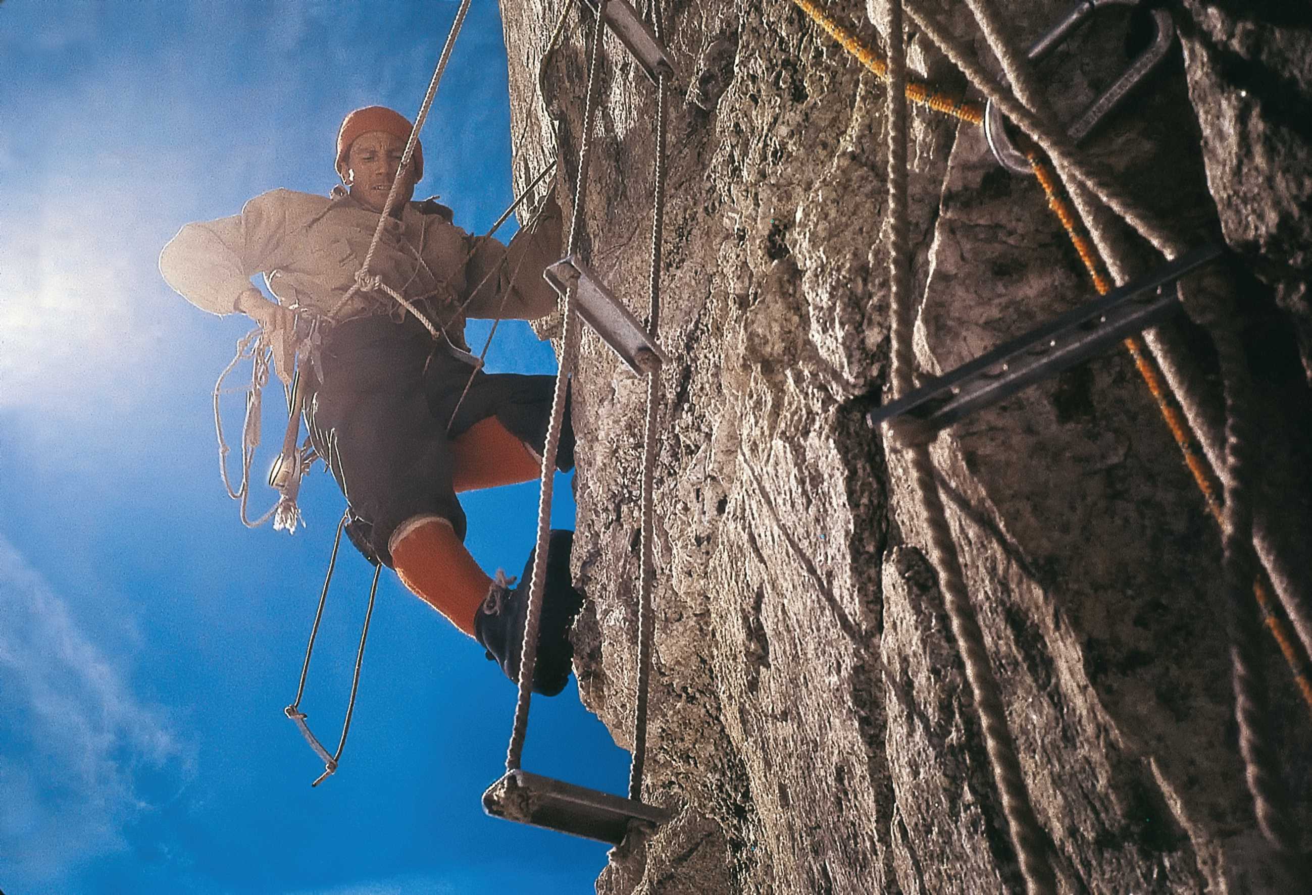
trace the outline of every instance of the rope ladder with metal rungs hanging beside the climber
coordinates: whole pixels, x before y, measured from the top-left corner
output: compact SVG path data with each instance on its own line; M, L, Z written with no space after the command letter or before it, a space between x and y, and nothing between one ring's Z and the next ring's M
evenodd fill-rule
M634 315L601 283L577 252L579 231L583 223L584 197L588 184L588 164L592 154L592 126L597 105L597 68L601 56L602 28L609 25L617 33L627 29L634 33L634 24L643 25L659 54L646 51L651 56L664 58L665 50L660 33L660 4L652 3L652 28L638 20L627 0L598 0L593 4L596 18L589 49L588 87L585 93L583 144L579 152L579 180L575 186L573 215L569 224L569 240L565 257L551 266L547 280L563 293L564 337L560 349L560 367L556 374L555 399L552 402L551 424L547 429L547 442L542 458L542 497L538 505L538 549L533 564L533 577L529 591L529 617L525 622L523 647L520 661L520 692L516 701L514 727L510 734L510 747L506 752L506 773L483 794L483 808L497 818L517 823L543 827L556 832L594 839L611 845L621 845L635 831L651 831L669 819L669 812L642 801L643 761L647 741L647 690L651 673L651 592L653 580L652 566L652 483L656 445L656 411L660 394L660 369L663 353L656 344L656 328L660 314L660 249L664 219L664 146L665 146L665 87L672 67L665 64L646 64L644 71L656 83L656 171L652 220L652 264L651 264L651 307L648 328L643 331ZM611 7L622 7L618 12ZM618 24L617 24L618 22ZM622 41L630 52L639 58L644 52L636 41ZM529 705L531 699L533 669L537 663L538 626L542 614L543 581L546 571L546 539L550 531L551 492L555 472L555 457L559 446L560 427L564 413L564 394L568 378L573 370L579 352L580 318L593 325L604 339L634 370L647 375L647 419L643 451L643 526L642 549L643 568L639 588L639 630L638 630L638 682L634 707L634 757L630 768L628 798L585 789L573 783L531 774L521 768L523 741L527 735Z

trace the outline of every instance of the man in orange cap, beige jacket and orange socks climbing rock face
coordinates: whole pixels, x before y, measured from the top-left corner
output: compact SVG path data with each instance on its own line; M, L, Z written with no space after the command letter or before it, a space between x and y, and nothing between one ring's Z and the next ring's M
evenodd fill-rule
M539 226L509 248L466 234L446 206L411 201L424 155L416 142L398 177L409 134L391 109L352 112L337 133L342 182L329 196L278 189L231 218L186 224L164 247L160 272L197 307L240 311L272 344L299 346L311 444L346 497L352 542L518 680L533 556L516 587L500 571L488 577L464 547L455 493L538 478L554 378L471 370L478 360L463 331L466 316L533 320L555 310L542 269L560 256L560 211L548 198ZM398 196L369 272L430 327L383 289L352 289L394 178ZM509 272L520 264L516 278ZM252 285L256 273L277 303ZM556 467L573 468L568 404ZM547 696L571 671L567 634L580 605L571 545L571 531L554 531L547 554L533 680Z

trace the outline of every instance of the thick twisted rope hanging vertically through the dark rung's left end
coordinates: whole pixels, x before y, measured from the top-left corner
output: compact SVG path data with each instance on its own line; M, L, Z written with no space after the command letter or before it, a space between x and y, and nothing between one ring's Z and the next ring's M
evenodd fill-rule
M904 87L907 58L901 0L891 0L890 3L888 47L888 268L892 316L891 378L896 399L914 387L912 356L914 303L911 294L911 224L907 211L907 94ZM934 480L934 463L929 454L929 445L911 444L905 446L904 453L911 467L920 509L929 528L930 559L938 572L939 589L966 667L966 678L975 696L984 732L984 745L988 751L998 794L1002 798L1002 812L1006 816L1012 843L1015 846L1026 891L1030 895L1056 895L1056 877L1048 860L1047 837L1039 825L1025 787L1025 777L1017 757L1015 743L1006 724L1006 713L997 678L989 667L984 633L980 630L975 609L970 602L956 545L947 525L947 514L938 493L938 483Z

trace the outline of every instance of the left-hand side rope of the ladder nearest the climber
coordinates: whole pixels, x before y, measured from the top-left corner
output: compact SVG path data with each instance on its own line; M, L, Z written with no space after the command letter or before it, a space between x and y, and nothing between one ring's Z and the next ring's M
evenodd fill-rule
M601 56L601 43L605 35L604 13L606 0L600 0L592 33L592 47L588 60L588 87L584 101L583 144L579 150L579 180L575 186L573 214L569 220L567 255L573 255L583 226L583 206L588 185L588 163L592 156L592 123L596 112L598 81L597 68ZM514 706L514 727L510 732L510 745L506 749L506 770L518 770L523 759L523 741L529 731L529 703L533 696L533 668L538 659L538 629L542 619L542 591L546 583L547 547L551 539L551 495L555 486L556 451L560 446L560 432L565 411L565 390L579 345L579 315L575 310L576 289L565 290L564 337L560 348L560 366L556 371L556 386L551 398L551 421L547 425L546 445L542 450L542 486L538 499L538 542L533 558L533 577L529 585L529 615L523 625L523 646L520 651L520 694Z

